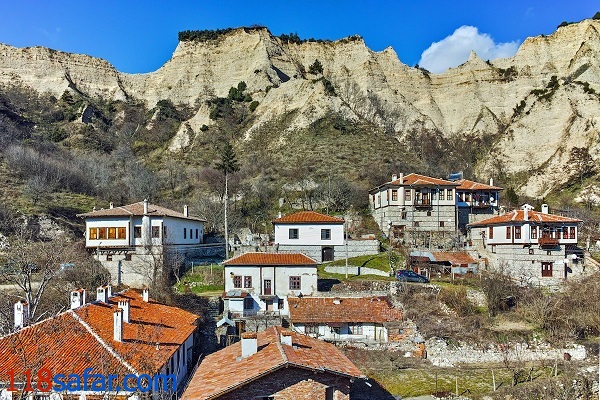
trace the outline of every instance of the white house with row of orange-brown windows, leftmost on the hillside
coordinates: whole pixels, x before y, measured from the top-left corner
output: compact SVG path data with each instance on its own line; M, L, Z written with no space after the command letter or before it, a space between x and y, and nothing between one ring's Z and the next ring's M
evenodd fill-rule
M148 284L163 256L183 261L204 241L205 220L149 204L148 200L78 214L85 219L85 245L115 283Z

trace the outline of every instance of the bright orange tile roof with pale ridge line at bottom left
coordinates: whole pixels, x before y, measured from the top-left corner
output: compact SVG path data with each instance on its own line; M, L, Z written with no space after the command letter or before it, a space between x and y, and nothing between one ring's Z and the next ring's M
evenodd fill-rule
M123 341L115 342L113 312L119 300L130 301L130 323L123 322ZM85 368L99 374L157 372L196 330L198 318L126 290L108 303L88 303L0 338L0 381L11 368L33 365L65 374L82 374Z

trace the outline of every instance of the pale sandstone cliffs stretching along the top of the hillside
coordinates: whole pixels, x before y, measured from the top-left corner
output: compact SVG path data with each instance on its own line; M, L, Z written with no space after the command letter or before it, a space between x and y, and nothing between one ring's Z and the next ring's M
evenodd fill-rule
M573 148L587 149L588 162L600 156L599 31L600 21L584 20L525 40L512 58L490 62L473 53L442 74L402 64L392 48L373 52L360 37L290 43L265 28L180 41L159 70L136 75L85 55L0 45L0 83L55 97L74 91L107 101L142 100L148 108L160 100L188 106L189 118L166 146L185 152L218 125L218 118L210 118L211 101L227 97L243 81L258 104L238 128L241 148L259 144L283 154L285 162L294 155L286 153L290 146L318 142L323 124L335 128L325 132L340 136L361 127L361 141L381 144L374 144L376 151L361 150L362 166L379 165L386 175L410 168L397 159L404 154L397 153L400 146L430 169L438 163L428 158L454 157L439 164L439 175L464 169L480 179L510 182L522 194L544 196L590 172L578 170L574 157L581 152ZM315 60L322 69L311 68ZM353 140L358 139L340 139L344 145ZM444 154L452 143L470 144L463 150L474 156ZM337 160L344 156L342 147L324 147L319 155ZM394 153L385 154L387 148Z

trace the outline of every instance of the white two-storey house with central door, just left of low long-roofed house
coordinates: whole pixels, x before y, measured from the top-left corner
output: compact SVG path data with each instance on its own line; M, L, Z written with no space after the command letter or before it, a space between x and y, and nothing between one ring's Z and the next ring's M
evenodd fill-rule
M317 292L317 263L304 254L245 253L223 265L225 309L233 318L288 315L288 296Z

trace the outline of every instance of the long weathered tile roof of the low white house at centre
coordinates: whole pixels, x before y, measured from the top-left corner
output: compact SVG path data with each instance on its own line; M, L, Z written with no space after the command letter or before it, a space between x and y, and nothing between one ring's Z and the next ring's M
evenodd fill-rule
M339 304L338 304L339 303ZM289 297L294 323L374 322L402 320L402 310L387 297Z

